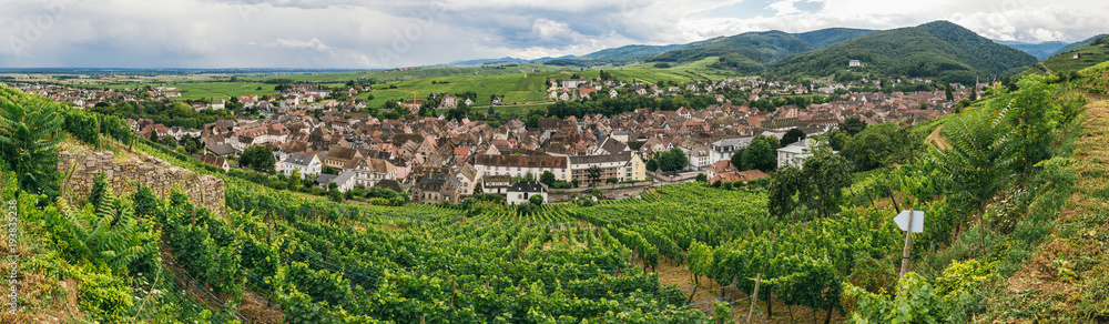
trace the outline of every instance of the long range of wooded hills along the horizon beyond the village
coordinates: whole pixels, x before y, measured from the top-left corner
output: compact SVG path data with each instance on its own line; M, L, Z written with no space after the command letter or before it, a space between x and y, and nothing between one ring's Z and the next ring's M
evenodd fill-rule
M993 41L958 24L935 21L884 31L828 28L801 33L745 32L684 44L624 45L580 57L482 59L451 64L548 62L591 67L640 61L658 62L662 67L720 58L712 63L713 68L776 77L824 77L843 71L849 61L858 60L863 67L857 70L862 71L938 77L966 83L976 74L1016 73L1060 52L1085 48L1097 38L1074 44Z

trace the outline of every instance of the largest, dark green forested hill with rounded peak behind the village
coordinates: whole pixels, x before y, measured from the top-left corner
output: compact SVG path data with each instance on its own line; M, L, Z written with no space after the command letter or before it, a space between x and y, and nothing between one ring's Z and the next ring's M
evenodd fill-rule
M1036 58L983 38L947 21L879 31L827 48L775 61L767 69L775 77L823 77L846 71L859 60L856 72L875 75L936 77L970 84L975 73L1000 74L1029 67Z

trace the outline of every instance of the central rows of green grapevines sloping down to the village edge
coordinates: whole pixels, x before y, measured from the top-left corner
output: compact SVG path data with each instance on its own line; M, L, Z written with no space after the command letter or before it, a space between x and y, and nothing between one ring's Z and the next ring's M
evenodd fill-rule
M877 213L795 224L769 217L762 192L701 184L472 217L431 205L334 204L237 181L227 186L227 222L172 201L159 217L190 273L238 269L197 280L214 294L264 296L296 323L712 322L747 300L694 302L694 292L660 282L660 262L735 282L742 295L759 276L764 296L831 312L858 261L899 242Z

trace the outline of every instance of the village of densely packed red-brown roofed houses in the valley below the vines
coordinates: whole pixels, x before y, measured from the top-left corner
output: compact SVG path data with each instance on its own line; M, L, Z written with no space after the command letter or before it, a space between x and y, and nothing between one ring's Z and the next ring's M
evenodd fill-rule
M863 82L872 82L863 80ZM879 81L873 81L879 84ZM902 82L902 80L896 80ZM932 82L915 79L905 82ZM527 126L520 119L505 123L484 120L413 117L424 100L397 102L413 114L383 120L365 112L365 101L350 97L345 101L327 99L330 90L314 84L291 84L281 95L247 94L232 99L261 112L261 118L242 115L221 119L201 129L170 128L150 119L128 119L131 130L144 139L172 136L199 139L203 153L195 154L207 164L228 170L247 148L267 146L275 172L316 179L327 189L335 183L339 191L357 188L383 188L407 194L413 202L458 203L477 193L506 196L509 204L527 203L532 195L545 202L563 201L579 193L592 192L591 185L609 189L602 199L634 195L653 185L693 181L699 174L709 182L746 182L767 176L760 170L739 170L730 159L756 135L783 139L790 130L806 136L818 135L848 117L867 124L884 122L918 123L953 111L970 90L952 84L945 91L852 92L857 85L833 82L831 78L811 84L757 79L690 82L682 87L613 82L601 79L550 80L551 101L572 101L592 95L615 98L622 93L665 97L679 93L709 94L740 90L743 104L733 104L724 94L702 110L679 108L674 111L638 109L618 115L586 114L563 119L540 119ZM986 84L978 84L981 89ZM180 98L176 89L147 88L144 94L133 91L90 90L64 85L17 83L16 88L79 108L92 108L108 101L171 100ZM345 94L373 91L352 87ZM775 95L807 93L833 95L826 103L805 107L782 105L760 110L747 102ZM438 98L441 97L441 98ZM431 93L439 108L472 104L469 99L448 93ZM220 110L227 100L191 102L192 109ZM501 104L495 98L492 105ZM490 109L490 111L492 111ZM812 139L791 143L776 151L779 166L801 162L817 145ZM650 170L648 161L660 152L680 150L688 164L674 172ZM553 175L553 182L550 175ZM542 179L547 178L546 181ZM587 189L588 188L588 189Z

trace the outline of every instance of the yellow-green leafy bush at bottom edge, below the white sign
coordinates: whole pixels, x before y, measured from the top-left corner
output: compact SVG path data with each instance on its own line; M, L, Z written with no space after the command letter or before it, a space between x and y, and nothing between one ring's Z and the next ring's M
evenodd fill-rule
M858 298L858 308L851 314L853 323L940 323L944 318L943 301L928 281L914 272L897 282L895 296L844 286L846 295Z

